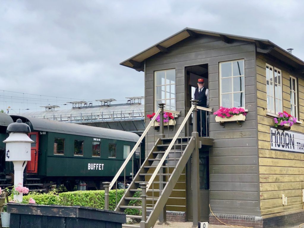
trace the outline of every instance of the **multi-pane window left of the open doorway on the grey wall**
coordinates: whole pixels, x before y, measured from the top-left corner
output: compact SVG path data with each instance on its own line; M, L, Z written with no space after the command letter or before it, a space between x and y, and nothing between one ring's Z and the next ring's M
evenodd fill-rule
M155 72L155 110L158 104L166 104L165 109L176 110L175 69Z

